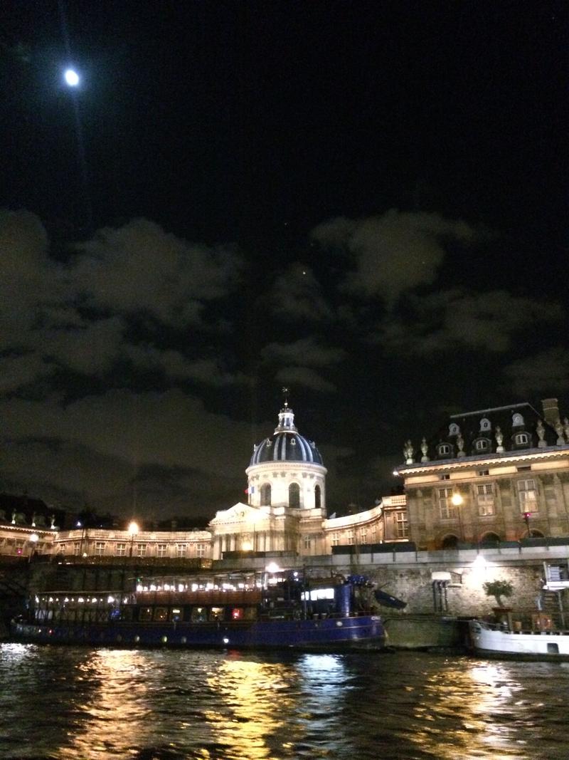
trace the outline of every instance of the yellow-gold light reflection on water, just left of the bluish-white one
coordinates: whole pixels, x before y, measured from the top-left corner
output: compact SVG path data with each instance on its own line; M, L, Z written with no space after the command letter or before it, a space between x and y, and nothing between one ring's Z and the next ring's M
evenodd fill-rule
M205 717L216 743L231 748L228 756L247 760L279 756L282 748L270 746L271 736L294 712L291 682L296 677L294 668L284 663L255 662L238 654L220 663L208 685L222 706L206 711ZM293 725L287 736L294 743Z

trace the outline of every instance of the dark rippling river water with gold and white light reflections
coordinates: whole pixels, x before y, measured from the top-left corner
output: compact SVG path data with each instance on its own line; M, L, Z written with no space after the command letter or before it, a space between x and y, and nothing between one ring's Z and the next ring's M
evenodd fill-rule
M569 758L569 663L0 645L0 758Z

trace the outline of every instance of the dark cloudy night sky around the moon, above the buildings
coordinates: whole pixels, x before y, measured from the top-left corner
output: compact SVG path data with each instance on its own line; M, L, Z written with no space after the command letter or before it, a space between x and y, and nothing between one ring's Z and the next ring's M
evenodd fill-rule
M0 490L212 517L286 385L341 514L448 413L569 413L567 43L566 2L0 5Z

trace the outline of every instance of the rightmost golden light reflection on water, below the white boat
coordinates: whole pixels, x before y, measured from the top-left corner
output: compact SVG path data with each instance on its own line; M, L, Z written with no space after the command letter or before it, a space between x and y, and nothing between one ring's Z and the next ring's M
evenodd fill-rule
M523 747L520 755L512 753L515 727L508 720L521 689L508 667L497 663L429 673L414 709L413 730L405 736L440 760L522 758Z

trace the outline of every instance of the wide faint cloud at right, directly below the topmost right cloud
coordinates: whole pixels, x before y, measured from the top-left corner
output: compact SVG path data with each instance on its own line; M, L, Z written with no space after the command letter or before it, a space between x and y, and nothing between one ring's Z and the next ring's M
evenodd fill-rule
M388 350L415 355L455 348L503 353L511 348L519 331L537 321L557 321L563 316L555 303L513 296L505 290L447 290L415 296L408 305L405 319L389 316L375 339Z

